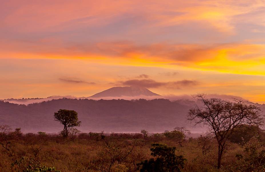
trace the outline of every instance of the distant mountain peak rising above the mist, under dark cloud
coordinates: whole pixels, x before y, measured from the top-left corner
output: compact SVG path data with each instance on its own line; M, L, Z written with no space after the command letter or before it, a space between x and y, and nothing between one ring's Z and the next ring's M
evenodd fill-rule
M121 97L121 96L160 96L147 88L140 86L112 87L90 97Z

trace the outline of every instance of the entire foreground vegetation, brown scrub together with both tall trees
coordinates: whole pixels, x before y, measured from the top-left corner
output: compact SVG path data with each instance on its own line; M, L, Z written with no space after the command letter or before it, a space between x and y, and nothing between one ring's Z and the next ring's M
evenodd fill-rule
M187 120L208 127L191 137L185 127L164 133L81 133L77 112L60 109L54 120L60 134L21 133L0 126L0 171L188 172L265 171L264 118L260 108L195 96L203 106L187 113Z

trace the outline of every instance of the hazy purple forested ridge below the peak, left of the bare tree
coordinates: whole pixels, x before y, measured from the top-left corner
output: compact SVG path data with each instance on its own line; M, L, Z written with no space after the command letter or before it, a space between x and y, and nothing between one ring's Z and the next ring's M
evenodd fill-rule
M69 109L78 112L82 121L79 129L86 132L138 132L140 129L163 132L176 126L189 126L185 118L194 103L165 99L129 101L67 98L27 106L0 102L0 125L21 127L26 132L58 132L62 126L53 120L53 114L59 109Z

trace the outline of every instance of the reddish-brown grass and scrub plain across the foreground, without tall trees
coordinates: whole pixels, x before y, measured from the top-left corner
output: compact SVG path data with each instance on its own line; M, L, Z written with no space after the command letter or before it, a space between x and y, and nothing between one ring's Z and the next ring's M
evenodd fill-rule
M10 130L1 135L0 171L34 171L34 168L62 172L140 171L142 161L158 158L151 155L152 143L176 147L175 155L184 158L183 168L178 165L181 171L218 171L214 138L193 138L189 133L184 138L178 129L173 131L167 134L72 132L64 138L44 132ZM264 135L256 127L232 135L219 171L264 171Z

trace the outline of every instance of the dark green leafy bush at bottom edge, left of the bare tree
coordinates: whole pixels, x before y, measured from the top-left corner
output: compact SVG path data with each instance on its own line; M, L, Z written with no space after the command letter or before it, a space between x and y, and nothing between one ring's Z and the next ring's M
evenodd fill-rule
M176 156L176 147L170 147L165 144L153 143L151 155L156 157L149 161L142 161L139 165L140 172L180 172L184 167L184 157Z

